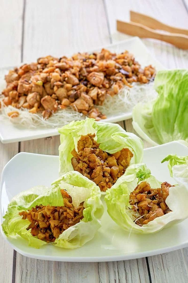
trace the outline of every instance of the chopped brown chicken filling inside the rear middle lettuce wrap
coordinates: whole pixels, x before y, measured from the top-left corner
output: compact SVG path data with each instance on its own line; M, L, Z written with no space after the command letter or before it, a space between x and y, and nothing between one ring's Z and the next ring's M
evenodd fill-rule
M133 154L128 148L109 154L99 148L94 137L95 134L81 136L78 153L75 149L71 152L71 163L74 170L94 181L105 192L125 173Z

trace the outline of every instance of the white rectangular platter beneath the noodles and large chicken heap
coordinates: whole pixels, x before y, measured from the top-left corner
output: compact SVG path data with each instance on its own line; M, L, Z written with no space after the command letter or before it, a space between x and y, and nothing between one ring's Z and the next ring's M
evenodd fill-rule
M142 43L140 38L133 37L126 39L115 44L110 44L108 46L103 46L109 49L112 52L122 52L123 50L129 50L134 54L136 60L139 61L141 66L153 65L156 70L164 69L163 65L157 61L152 55L151 52L146 48ZM98 51L101 48L92 50ZM0 80L4 79L5 74L8 72L9 68L0 69ZM125 113L118 113L113 115L108 115L107 119L102 120L103 122L118 122L132 117L132 111ZM25 141L25 140L34 140L37 138L45 138L48 136L58 135L57 128L34 128L34 129L23 129L19 126L13 125L9 120L0 120L0 140L2 143L10 143L15 141Z

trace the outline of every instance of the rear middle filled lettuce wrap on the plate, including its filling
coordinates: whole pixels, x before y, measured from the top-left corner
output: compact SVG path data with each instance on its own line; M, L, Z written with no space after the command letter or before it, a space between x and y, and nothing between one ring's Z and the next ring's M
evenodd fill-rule
M120 125L87 118L59 128L59 174L75 170L105 192L130 164L143 158L143 143Z

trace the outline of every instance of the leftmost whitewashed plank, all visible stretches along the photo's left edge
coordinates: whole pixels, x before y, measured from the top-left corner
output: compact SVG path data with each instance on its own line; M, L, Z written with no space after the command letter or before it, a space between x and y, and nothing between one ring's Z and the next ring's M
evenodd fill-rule
M12 66L21 61L23 1L6 1L0 3L0 67ZM0 174L5 164L18 152L18 143L0 143ZM0 273L1 282L14 281L13 248L0 235Z

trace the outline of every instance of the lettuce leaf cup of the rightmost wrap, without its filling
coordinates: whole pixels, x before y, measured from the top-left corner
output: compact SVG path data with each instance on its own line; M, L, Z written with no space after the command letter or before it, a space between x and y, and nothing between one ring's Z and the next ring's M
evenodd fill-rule
M168 156L167 160L170 160ZM138 168L141 168L142 172L147 172L145 174L145 180L152 188L158 188L162 183L149 174L149 169L145 164L135 164L127 168L123 178L118 179L113 187L109 188L106 192L105 202L110 217L124 230L142 234L155 233L164 227L182 222L186 219L188 217L188 164L187 162L181 165L177 164L172 167L172 175L177 185L169 189L169 196L166 198L166 204L172 210L170 213L157 217L143 226L135 224L131 205L129 204L129 195L138 183Z

